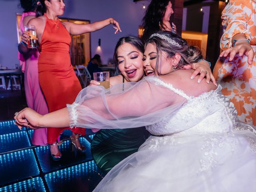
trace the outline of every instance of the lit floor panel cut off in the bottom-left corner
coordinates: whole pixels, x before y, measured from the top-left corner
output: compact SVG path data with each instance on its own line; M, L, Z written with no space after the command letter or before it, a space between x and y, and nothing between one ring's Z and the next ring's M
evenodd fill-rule
M36 177L0 188L0 192L46 192L42 178Z

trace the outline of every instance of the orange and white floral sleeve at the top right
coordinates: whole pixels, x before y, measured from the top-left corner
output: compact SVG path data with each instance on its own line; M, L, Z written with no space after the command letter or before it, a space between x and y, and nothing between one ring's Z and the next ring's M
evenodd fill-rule
M224 34L220 40L220 48L225 50L232 47L232 37L238 33L246 35L251 40L248 22L252 16L252 3L250 0L230 0L222 12L222 25Z

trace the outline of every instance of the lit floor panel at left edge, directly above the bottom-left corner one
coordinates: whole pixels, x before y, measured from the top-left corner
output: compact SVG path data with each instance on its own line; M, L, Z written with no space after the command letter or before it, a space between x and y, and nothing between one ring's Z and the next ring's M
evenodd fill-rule
M39 174L32 149L0 155L0 170L0 186Z

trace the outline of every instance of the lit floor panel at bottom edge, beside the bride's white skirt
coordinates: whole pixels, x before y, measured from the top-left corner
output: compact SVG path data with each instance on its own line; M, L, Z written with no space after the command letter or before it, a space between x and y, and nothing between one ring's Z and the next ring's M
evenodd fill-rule
M94 161L82 163L45 175L50 192L91 192L102 180Z

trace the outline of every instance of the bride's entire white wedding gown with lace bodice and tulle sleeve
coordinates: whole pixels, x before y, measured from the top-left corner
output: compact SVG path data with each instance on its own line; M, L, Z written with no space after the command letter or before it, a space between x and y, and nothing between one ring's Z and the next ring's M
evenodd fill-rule
M116 128L124 124L124 128L130 128L146 125L155 135L150 136L138 152L117 164L94 191L256 192L255 131L238 121L234 105L222 95L221 86L193 97L160 78L145 79L143 81L149 84L150 90L163 89L156 90L160 92L158 97L169 91L179 102L164 106L151 93L157 103L152 102L153 108L161 105L161 109L144 108L145 114L118 116L120 111L115 113L111 109L112 103L108 102L110 92L110 95L118 93L115 88L106 91L106 95L103 88L88 88L80 92L74 104L68 105L70 126ZM126 90L136 92L134 87L142 85L143 82ZM137 91L145 96L139 88ZM98 98L92 99L94 96ZM164 99L166 95L162 97ZM104 107L101 102L96 102L99 98ZM88 102L90 104L86 104ZM101 112L93 114L92 106L96 104L100 105L96 110ZM145 104L136 105L139 110L143 105L145 107ZM125 110L126 107L129 106L120 108Z

